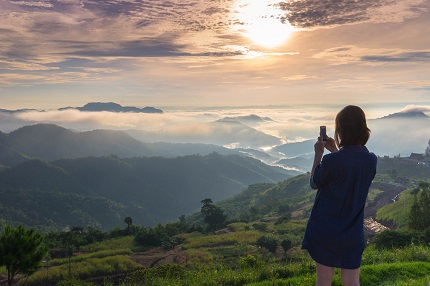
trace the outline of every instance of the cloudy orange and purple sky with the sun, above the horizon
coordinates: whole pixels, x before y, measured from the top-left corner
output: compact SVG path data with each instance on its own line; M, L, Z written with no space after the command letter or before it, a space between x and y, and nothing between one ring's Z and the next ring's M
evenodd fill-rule
M430 105L430 1L0 0L0 108Z

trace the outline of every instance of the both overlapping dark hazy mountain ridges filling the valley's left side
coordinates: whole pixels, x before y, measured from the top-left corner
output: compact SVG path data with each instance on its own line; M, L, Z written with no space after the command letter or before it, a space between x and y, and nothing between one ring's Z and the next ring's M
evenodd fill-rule
M212 151L175 155L199 149ZM282 168L232 153L213 145L149 144L121 131L73 132L52 124L0 132L0 218L49 229L109 229L125 216L154 225L194 212L205 198L218 201L253 183L291 177Z

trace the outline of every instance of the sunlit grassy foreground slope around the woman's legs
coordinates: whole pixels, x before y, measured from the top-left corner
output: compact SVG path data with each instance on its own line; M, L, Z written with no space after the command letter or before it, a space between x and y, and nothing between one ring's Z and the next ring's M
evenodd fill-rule
M132 236L107 239L81 247L70 260L51 259L22 281L26 280L26 285L60 282L88 286L313 285L315 265L307 252L300 249L300 239L294 239L301 237L304 225L304 221L269 224L262 231L251 224L233 224L217 234L183 233L179 235L183 239L179 247L144 252ZM273 237L278 243L292 238L292 248L284 252L278 244L275 252L269 252L256 244L263 236ZM366 248L361 285L422 286L429 282L428 246ZM338 271L332 285L342 285Z

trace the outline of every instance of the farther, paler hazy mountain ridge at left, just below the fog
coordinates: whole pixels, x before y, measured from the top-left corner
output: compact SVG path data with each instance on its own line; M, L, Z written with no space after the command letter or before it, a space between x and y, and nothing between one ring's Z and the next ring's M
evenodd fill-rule
M0 164L15 166L29 159L52 161L88 156L115 155L121 158L176 157L235 151L204 144L143 143L122 131L74 132L53 124L36 124L8 134L0 133Z

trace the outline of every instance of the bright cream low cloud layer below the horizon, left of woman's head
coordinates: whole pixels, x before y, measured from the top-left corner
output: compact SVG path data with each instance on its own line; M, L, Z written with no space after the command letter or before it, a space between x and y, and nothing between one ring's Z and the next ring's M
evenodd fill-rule
M196 111L166 111L164 114L145 113L113 113L113 112L80 112L78 110L49 110L44 112L29 111L15 114L4 114L2 129L11 130L13 127L35 123L53 123L67 128L87 131L92 129L137 129L148 132L162 132L171 138L179 136L209 136L212 132L217 134L231 133L237 130L229 124L208 125L225 117L245 117L256 114L260 117L270 117L272 121L262 121L252 127L281 139L296 141L298 138L313 138L316 128L321 122L331 125L334 111L322 111L319 108L279 109L213 109ZM7 120L6 120L7 119ZM293 123L293 124L292 124ZM213 135L212 135L213 137Z

